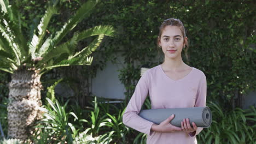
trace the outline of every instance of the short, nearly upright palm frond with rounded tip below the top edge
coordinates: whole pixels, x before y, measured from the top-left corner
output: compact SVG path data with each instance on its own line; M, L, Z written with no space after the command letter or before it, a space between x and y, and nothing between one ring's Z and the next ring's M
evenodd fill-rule
M44 16L42 17L39 25L37 26L38 35L37 35L37 33L34 33L32 41L30 43L30 53L31 53L32 58L36 57L35 52L38 49L38 47L40 47L40 45L42 45L42 43L43 43L43 38L45 35L46 28L49 24L49 21L50 21L51 17L56 13L57 13L57 9L55 7L49 7L45 11Z

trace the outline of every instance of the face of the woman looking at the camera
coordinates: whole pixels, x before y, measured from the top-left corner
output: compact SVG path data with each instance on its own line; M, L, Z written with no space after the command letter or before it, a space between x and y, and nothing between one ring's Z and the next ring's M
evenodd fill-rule
M185 37L185 41L187 40L188 38ZM162 47L165 58L181 57L183 46L185 46L181 29L177 26L166 26L162 31L159 45Z

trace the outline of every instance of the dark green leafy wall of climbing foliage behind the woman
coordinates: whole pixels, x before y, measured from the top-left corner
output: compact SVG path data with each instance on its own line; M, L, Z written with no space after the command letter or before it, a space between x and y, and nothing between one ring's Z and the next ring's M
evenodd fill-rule
M84 2L62 0L61 16L55 16L50 22L49 34ZM19 3L18 7L24 14L21 19L25 20L21 25L29 28L36 26L31 21L38 22L50 1L11 3ZM116 61L119 53L125 63L119 71L119 79L126 88L126 100L129 100L142 65L152 68L162 63L162 52L156 46L158 28L165 19L175 17L184 23L189 39L190 46L187 53L183 53L183 61L206 74L207 100L221 102L227 108L241 107L243 95L256 88L255 6L253 0L101 1L91 17L79 23L74 31L96 25L112 25L117 31L115 37L103 40L93 54L91 66L59 68L50 73L67 77L66 83L71 83L73 91L77 93L75 97L82 99L79 103L84 105L86 97L91 94L91 79L96 76L96 71L103 70L107 61ZM87 43L79 43L78 49Z

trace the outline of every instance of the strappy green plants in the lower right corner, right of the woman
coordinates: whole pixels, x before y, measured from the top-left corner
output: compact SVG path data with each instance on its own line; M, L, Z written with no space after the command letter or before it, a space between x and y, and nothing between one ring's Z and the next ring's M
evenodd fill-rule
M199 143L254 143L256 141L254 107L249 110L236 108L225 112L217 104L208 105L212 111L211 127L198 135Z

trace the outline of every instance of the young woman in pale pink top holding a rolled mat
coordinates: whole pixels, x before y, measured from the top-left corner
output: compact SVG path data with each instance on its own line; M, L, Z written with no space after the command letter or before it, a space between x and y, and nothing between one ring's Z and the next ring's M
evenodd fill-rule
M141 106L149 94L152 109L201 107L206 103L206 76L182 60L182 50L188 48L188 38L179 19L167 19L160 26L158 46L164 52L164 62L146 71L139 79L135 92L123 115L123 123L147 134L147 143L197 143L196 135L202 128L189 119L183 119L182 127L170 123L174 115L155 124L139 117Z

